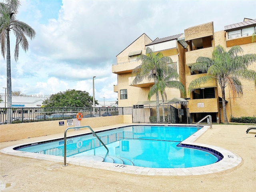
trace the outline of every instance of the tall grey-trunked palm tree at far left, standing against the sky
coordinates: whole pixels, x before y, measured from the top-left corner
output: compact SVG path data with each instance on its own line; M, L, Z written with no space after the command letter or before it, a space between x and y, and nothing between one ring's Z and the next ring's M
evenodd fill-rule
M19 0L6 0L6 4L0 2L0 42L1 53L7 63L7 107L12 107L12 80L11 80L11 56L10 56L10 31L16 36L16 45L14 50L14 59L17 62L19 57L19 46L25 51L28 50L28 40L36 36L36 32L28 24L16 20L15 15L18 13L20 6ZM8 122L10 122L10 114L8 113Z

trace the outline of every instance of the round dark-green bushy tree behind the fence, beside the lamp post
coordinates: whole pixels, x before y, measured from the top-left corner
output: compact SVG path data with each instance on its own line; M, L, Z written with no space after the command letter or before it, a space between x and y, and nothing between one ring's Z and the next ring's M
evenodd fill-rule
M93 97L86 91L66 90L52 94L50 98L42 102L44 107L91 107ZM95 101L98 104L98 101Z

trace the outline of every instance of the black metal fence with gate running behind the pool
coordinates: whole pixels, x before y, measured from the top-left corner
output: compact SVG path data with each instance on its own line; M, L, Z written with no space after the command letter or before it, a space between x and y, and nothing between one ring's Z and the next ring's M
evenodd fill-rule
M159 118L156 115L157 110ZM164 107L0 108L0 124L72 119L77 118L78 113L83 118L132 115L133 123L190 123L187 108L177 109L166 104Z

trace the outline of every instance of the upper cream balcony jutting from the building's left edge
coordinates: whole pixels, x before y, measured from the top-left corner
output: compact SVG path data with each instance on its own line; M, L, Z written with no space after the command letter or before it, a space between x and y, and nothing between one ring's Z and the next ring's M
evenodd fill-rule
M123 74L131 73L134 68L139 66L141 61L124 62L112 65L112 73Z

